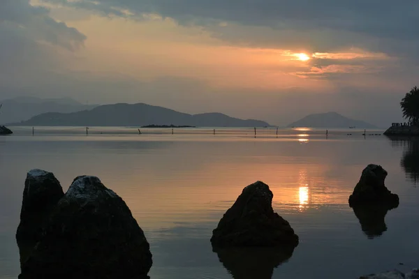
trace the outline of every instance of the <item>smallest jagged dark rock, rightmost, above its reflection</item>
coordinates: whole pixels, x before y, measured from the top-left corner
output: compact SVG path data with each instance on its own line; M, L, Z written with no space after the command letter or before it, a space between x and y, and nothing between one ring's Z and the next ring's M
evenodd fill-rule
M367 165L349 197L349 205L353 207L357 204L384 203L392 207L398 206L399 196L392 194L384 185L387 174L381 165Z

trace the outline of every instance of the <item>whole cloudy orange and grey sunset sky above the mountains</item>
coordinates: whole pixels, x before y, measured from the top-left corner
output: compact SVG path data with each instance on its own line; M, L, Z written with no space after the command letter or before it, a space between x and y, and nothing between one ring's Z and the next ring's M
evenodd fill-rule
M388 126L419 86L417 0L1 0L0 99Z

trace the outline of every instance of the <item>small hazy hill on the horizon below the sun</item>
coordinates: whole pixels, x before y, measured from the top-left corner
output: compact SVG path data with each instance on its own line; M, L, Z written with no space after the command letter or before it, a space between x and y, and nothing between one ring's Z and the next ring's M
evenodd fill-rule
M376 128L376 126L365 121L349 119L337 112L326 112L321 114L309 114L304 118L295 121L288 127L307 128Z

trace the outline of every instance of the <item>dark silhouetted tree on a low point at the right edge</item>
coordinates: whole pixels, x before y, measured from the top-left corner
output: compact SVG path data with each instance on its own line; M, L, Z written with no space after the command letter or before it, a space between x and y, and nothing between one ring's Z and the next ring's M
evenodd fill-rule
M391 127L385 130L387 136L418 136L419 135L419 88L414 86L406 93L400 102L403 117L407 120L404 123L392 123Z

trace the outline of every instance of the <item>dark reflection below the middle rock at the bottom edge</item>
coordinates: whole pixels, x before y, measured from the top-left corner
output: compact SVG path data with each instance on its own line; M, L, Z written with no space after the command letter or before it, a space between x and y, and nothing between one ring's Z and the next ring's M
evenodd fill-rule
M247 247L213 251L235 279L271 279L274 269L286 262L294 249Z

